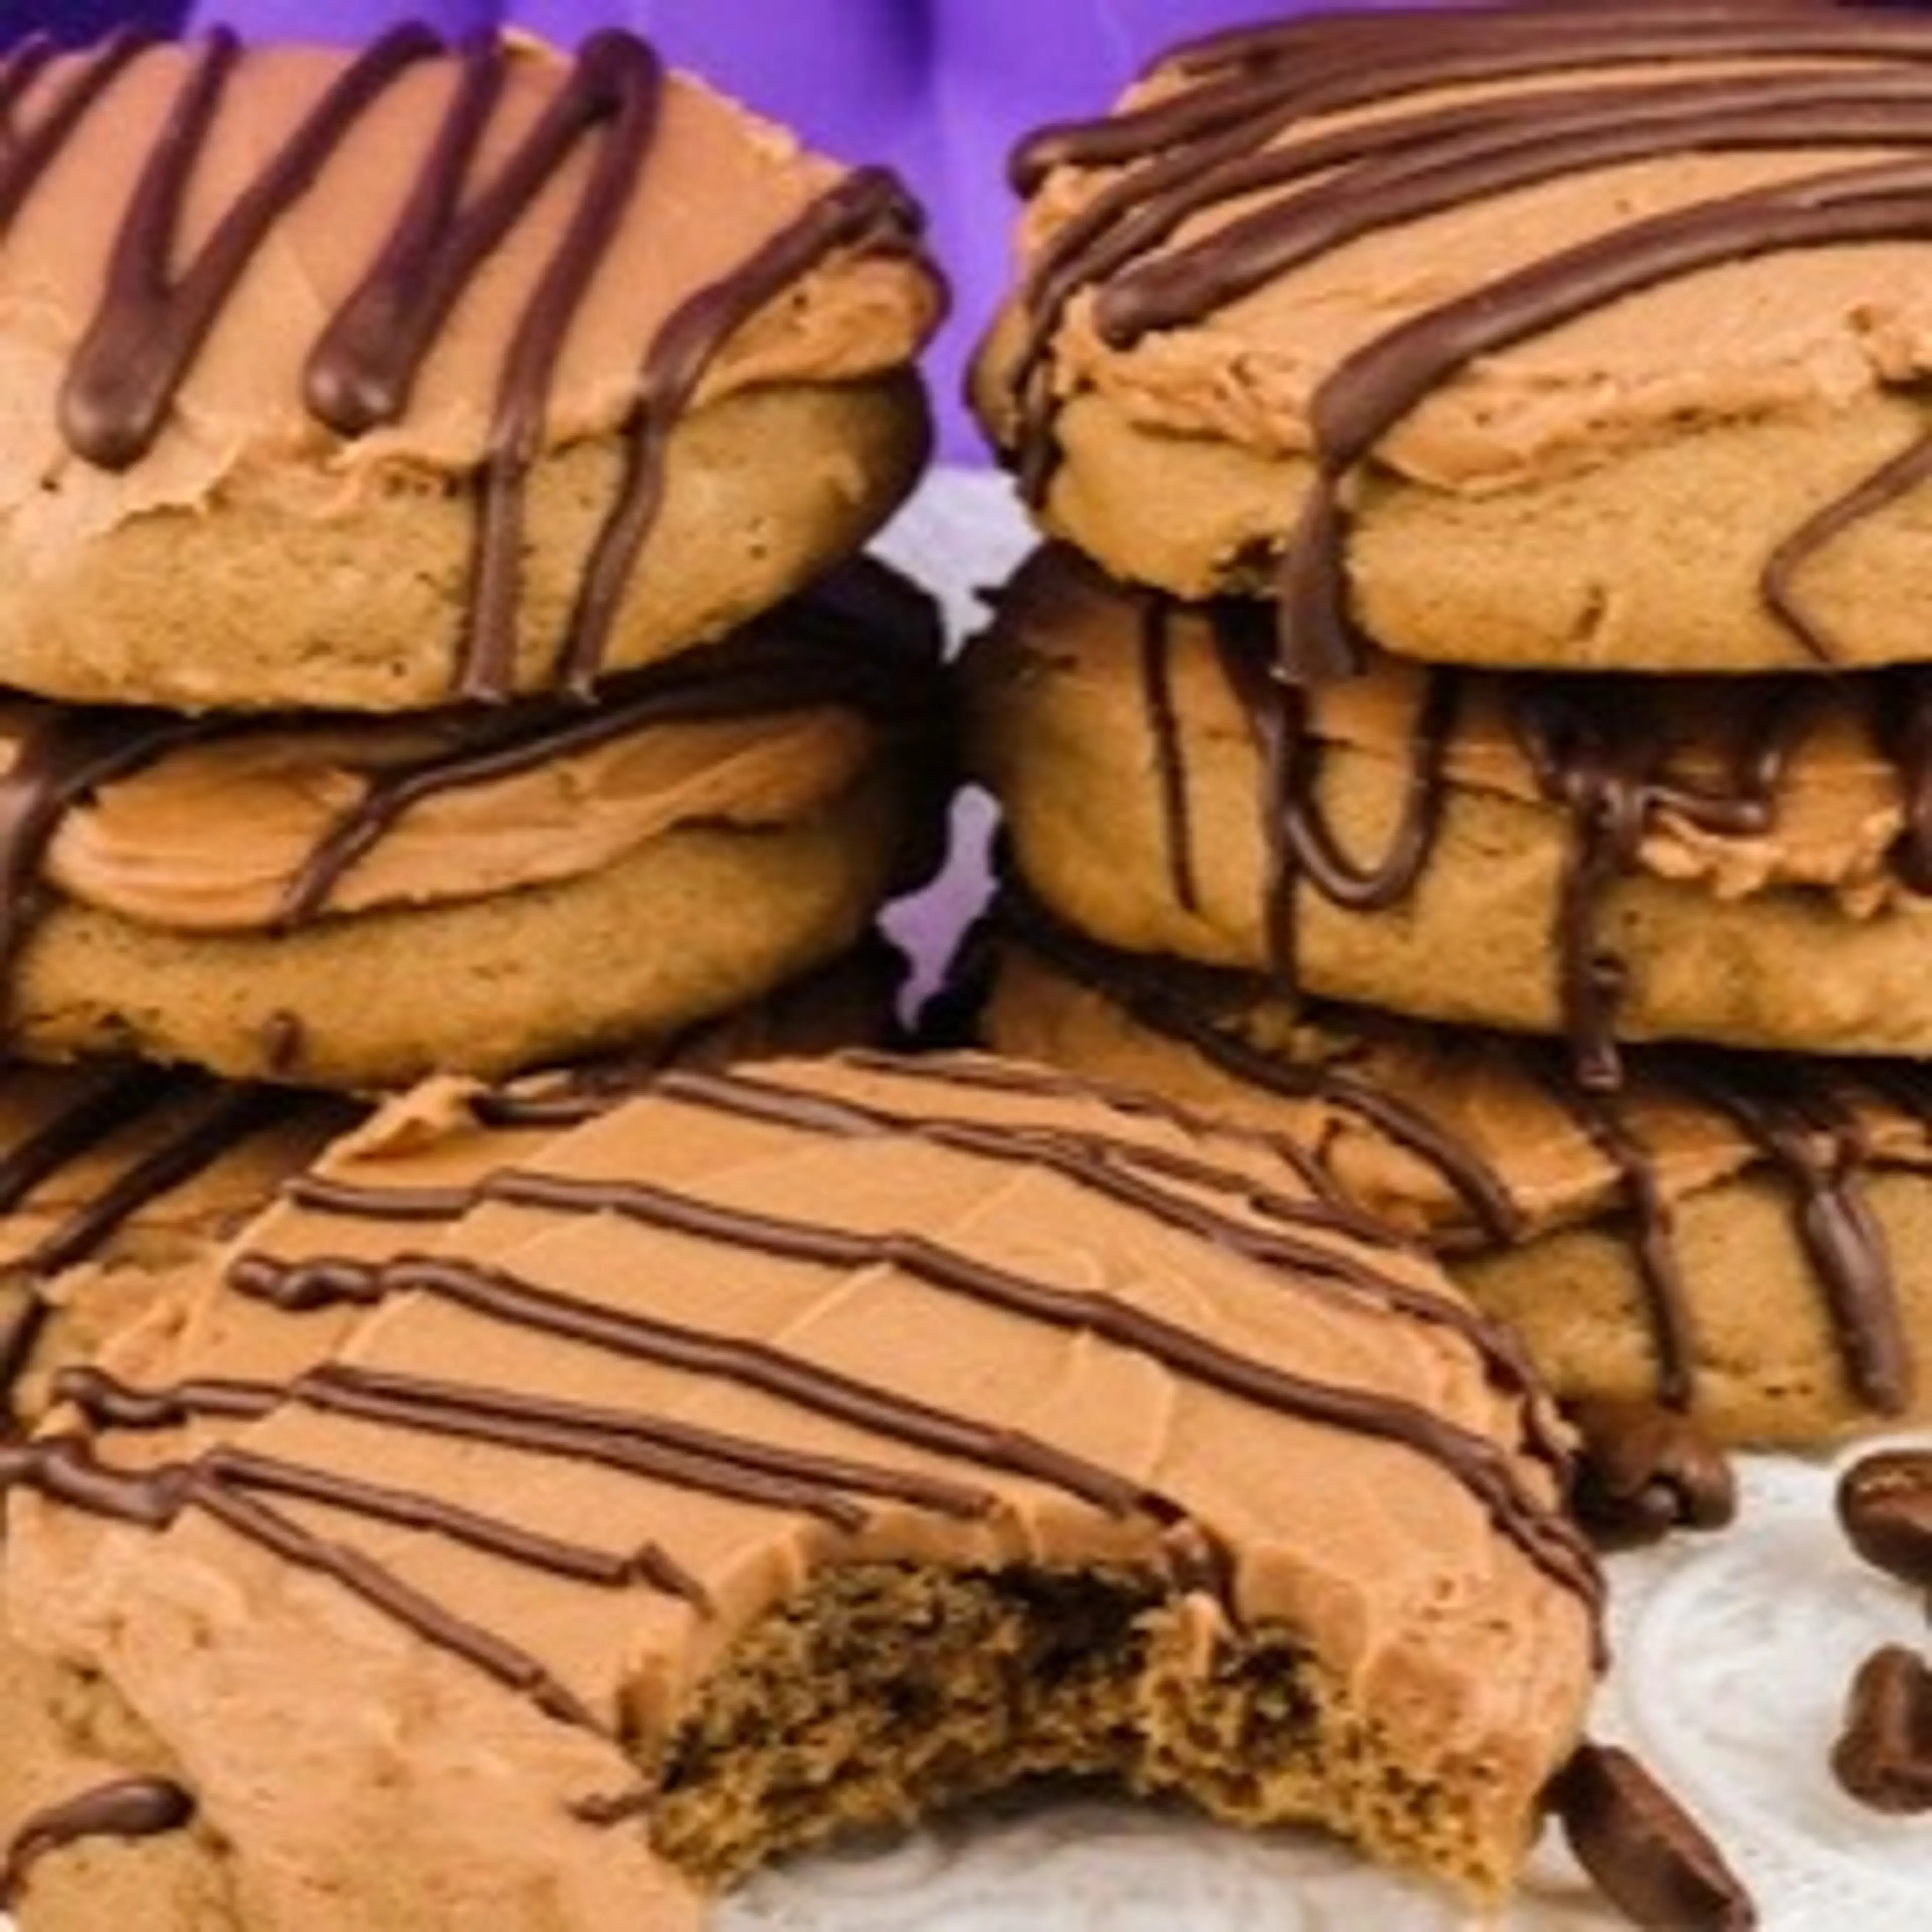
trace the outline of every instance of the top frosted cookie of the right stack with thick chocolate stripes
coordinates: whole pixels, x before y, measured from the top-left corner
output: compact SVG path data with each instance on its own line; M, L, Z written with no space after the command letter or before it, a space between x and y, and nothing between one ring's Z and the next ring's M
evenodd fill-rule
M1316 15L1014 158L981 417L1047 527L1175 595L1453 663L1922 661L1932 19Z

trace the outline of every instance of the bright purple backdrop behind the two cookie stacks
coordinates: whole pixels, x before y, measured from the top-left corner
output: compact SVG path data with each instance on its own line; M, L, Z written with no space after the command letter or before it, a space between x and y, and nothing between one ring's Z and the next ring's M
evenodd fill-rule
M0 41L110 17L172 29L230 21L255 39L359 41L402 17L446 33L516 21L570 44L628 25L724 91L846 160L885 160L918 189L952 276L933 363L947 454L981 456L954 408L960 367L1005 282L1005 156L1028 128L1105 106L1159 46L1308 0L0 0Z

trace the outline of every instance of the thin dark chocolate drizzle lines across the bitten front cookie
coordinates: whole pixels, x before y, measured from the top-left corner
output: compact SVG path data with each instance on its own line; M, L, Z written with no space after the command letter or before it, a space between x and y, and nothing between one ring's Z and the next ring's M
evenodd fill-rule
M947 1080L947 1065L906 1063L904 1078L914 1084ZM980 1072L978 1063L958 1065L966 1084L974 1084ZM1028 1070L1018 1076L1026 1082L1051 1080ZM1548 1410L1528 1393L1505 1339L1457 1312L1424 1304L1393 1273L1383 1279L1370 1260L1374 1250L1349 1248L1347 1236L1331 1233L1335 1250L1323 1256L1320 1244L1312 1244L1329 1229L1329 1215L1320 1204L1302 1217L1287 1198L1277 1198L1238 1171L1221 1171L1206 1151L1196 1157L1180 1150L1148 1150L1142 1157L1124 1138L1099 1130L1043 1132L1028 1128L1024 1119L995 1124L978 1113L960 1121L935 1119L931 1109L916 1105L916 1095L908 1099L912 1103L902 1111L887 1103L790 1092L782 1082L765 1078L676 1074L653 1105L670 1101L723 1109L786 1134L852 1140L916 1136L972 1161L1034 1161L1200 1238L1233 1240L1260 1265L1275 1269L1283 1289L1341 1294L1389 1320L1447 1325L1466 1339L1501 1387L1515 1391L1524 1434L1517 1453L1542 1459L1548 1480L1520 1470L1503 1445L1399 1397L1298 1378L1126 1300L1061 1287L910 1231L862 1233L817 1219L730 1208L676 1186L587 1180L531 1167L495 1167L473 1182L427 1188L311 1177L296 1186L294 1202L309 1215L377 1217L392 1225L442 1223L485 1202L500 1202L543 1215L618 1217L715 1244L726 1254L786 1258L804 1267L889 1267L943 1296L1092 1335L1238 1401L1389 1441L1424 1457L1478 1503L1501 1538L1596 1611L1602 1578L1557 1501L1567 1459ZM1221 1202L1229 1208L1223 1209ZM922 1457L1018 1476L1109 1517L1148 1519L1157 1546L1169 1551L1175 1565L1177 1588L1208 1588L1208 1578L1217 1578L1215 1588L1225 1590L1235 1575L1231 1555L1180 1503L1130 1474L1022 1430L916 1401L889 1383L817 1362L796 1347L713 1327L699 1308L692 1310L692 1320L680 1321L636 1306L585 1300L506 1267L466 1260L460 1252L363 1260L328 1252L282 1258L251 1250L230 1264L228 1285L298 1320L338 1306L365 1308L392 1296L423 1296L508 1329L554 1335L580 1349L688 1378L736 1383L786 1408L833 1418ZM286 1408L309 1408L357 1424L450 1435L533 1457L589 1461L620 1474L817 1519L823 1532L835 1538L864 1530L877 1501L962 1520L1003 1507L991 1490L976 1482L898 1466L889 1457L819 1455L788 1445L782 1435L701 1428L678 1420L674 1412L595 1406L572 1397L396 1374L367 1362L325 1360L276 1383L187 1379L155 1389L73 1370L58 1379L56 1393L93 1434L176 1430L195 1418L242 1428ZM265 1435L259 1447L247 1447L245 1437L242 1443L218 1441L185 1463L156 1464L149 1451L139 1466L128 1468L104 1455L93 1434L56 1434L0 1451L0 1486L25 1486L68 1507L153 1526L176 1520L184 1509L213 1515L288 1561L336 1577L425 1642L533 1696L562 1721L597 1723L531 1656L425 1598L386 1565L307 1528L299 1507L321 1503L603 1588L641 1584L668 1590L694 1613L709 1611L697 1578L655 1546L639 1553L566 1542L549 1530L502 1520L487 1509L460 1509L386 1482L288 1461L274 1453L272 1435Z

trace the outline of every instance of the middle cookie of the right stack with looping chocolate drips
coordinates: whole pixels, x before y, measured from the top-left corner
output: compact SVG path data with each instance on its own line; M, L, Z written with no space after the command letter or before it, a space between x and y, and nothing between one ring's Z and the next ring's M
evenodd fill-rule
M1932 1053L1932 684L1484 676L1300 694L1265 618L1049 549L968 653L1024 881L1130 952L1430 1020Z

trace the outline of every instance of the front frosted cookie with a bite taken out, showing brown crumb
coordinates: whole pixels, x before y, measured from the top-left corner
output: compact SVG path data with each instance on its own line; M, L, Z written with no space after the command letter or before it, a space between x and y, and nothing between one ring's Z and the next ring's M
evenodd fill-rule
M1592 1683L1513 1343L1277 1151L999 1061L431 1084L62 1395L8 1609L245 1922L672 1932L1055 1768L1492 1897Z

